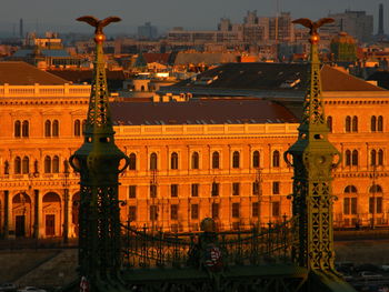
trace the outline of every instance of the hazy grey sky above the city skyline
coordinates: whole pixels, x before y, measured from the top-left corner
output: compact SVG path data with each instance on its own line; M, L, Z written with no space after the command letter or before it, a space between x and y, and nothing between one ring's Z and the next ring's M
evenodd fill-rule
M388 33L389 0L279 0L280 11L290 11L293 18L317 19L329 11L366 10L375 16L375 31L379 3L385 7ZM112 24L107 32L132 33L146 21L161 29L215 29L221 17L241 22L247 10L257 10L258 16L273 16L277 0L1 0L0 31L16 30L18 33L22 18L24 30L88 32L87 24L74 21L84 14L121 17L122 22Z

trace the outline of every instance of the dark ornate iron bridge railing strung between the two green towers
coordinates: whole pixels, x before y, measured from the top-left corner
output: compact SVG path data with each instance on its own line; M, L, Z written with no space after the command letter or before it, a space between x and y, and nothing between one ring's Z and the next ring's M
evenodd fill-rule
M215 258L222 259L223 265L288 263L295 222L296 218L261 230L190 233L122 224L122 262L129 269L200 266Z

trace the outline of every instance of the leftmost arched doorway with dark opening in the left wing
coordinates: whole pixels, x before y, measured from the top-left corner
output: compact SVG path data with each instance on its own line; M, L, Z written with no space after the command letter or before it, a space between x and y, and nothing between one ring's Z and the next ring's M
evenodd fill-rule
M12 198L12 214L14 235L24 238L31 235L31 199L26 192L17 193Z

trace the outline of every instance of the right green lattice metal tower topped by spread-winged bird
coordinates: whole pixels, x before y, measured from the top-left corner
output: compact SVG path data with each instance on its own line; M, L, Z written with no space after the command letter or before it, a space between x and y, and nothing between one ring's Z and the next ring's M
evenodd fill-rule
M317 29L332 21L293 21L310 28L310 80L298 140L285 154L288 163L288 153L292 155L295 168L292 213L298 218L295 261L300 266L327 274L335 272L331 170L336 165L336 155L339 163L340 153L327 138L329 131L321 97Z

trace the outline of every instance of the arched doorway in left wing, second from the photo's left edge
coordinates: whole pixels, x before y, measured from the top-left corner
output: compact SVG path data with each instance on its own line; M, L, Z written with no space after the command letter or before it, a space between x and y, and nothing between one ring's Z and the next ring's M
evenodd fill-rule
M61 229L61 198L54 192L43 195L44 235L59 236Z

